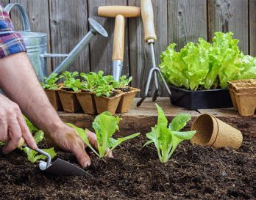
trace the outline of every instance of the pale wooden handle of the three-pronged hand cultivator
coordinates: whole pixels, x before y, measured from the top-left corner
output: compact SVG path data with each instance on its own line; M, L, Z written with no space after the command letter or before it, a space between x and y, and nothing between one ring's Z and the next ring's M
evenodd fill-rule
M154 12L151 0L141 0L141 17L144 26L144 40L157 40L154 32Z

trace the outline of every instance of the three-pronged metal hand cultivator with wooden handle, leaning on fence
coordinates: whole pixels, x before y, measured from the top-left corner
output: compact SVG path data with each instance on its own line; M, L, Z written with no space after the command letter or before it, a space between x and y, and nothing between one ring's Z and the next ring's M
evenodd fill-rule
M149 85L152 81L152 75L154 73L154 96L152 98L153 101L157 100L158 91L159 91L159 85L158 85L158 78L157 73L160 75L163 84L166 86L166 90L168 92L168 95L171 96L171 91L168 88L168 85L166 84L166 80L163 78L163 74L161 73L160 69L155 64L155 57L154 57L154 42L157 40L157 36L154 32L154 14L153 14L153 7L152 7L152 1L151 0L141 0L141 17L143 21L144 26L144 40L150 45L150 51L152 56L152 68L149 71L149 77L148 81L146 82L146 89L144 92L143 97L141 97L141 100L137 103L137 106L140 106L141 103L143 103L143 100L146 99L148 93L149 93Z

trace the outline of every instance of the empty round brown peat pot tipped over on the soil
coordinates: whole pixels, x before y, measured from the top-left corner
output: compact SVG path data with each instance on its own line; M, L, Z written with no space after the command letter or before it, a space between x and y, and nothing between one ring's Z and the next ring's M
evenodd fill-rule
M214 149L221 147L239 149L243 141L241 131L210 114L202 114L197 117L191 130L196 130L195 136L191 138L192 144L213 147Z

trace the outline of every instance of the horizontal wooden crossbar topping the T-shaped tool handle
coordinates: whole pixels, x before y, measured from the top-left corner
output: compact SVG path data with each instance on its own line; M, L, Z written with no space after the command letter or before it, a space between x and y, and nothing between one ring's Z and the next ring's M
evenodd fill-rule
M141 16L141 8L127 6L104 6L98 8L98 15L105 18L115 18L117 15L123 15L124 18L135 18Z

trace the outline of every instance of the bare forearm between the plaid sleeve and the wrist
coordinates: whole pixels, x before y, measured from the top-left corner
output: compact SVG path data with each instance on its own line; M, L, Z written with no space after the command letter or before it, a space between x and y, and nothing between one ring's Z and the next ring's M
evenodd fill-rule
M0 87L46 133L63 125L40 86L26 53L16 53L0 59Z

